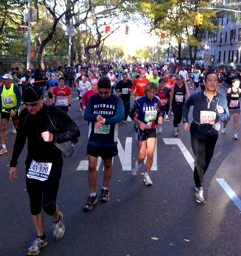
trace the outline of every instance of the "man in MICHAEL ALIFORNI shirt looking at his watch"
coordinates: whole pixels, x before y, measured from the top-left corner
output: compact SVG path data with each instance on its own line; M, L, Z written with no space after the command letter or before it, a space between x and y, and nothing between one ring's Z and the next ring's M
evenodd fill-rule
M124 106L120 97L111 93L111 81L102 77L98 82L99 94L90 97L84 119L89 121L87 154L89 159L88 180L89 198L84 210L90 211L97 203L96 166L98 156L104 163L104 180L101 189L102 202L109 201L108 184L112 175L112 158L118 154L118 123L124 119Z

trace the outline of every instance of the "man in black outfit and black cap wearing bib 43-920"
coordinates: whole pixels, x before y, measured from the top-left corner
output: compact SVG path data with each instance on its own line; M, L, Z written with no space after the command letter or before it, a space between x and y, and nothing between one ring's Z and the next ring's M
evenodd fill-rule
M43 210L53 218L54 237L64 235L63 214L56 205L63 158L54 142L76 143L80 131L75 122L59 108L44 104L39 87L25 91L24 104L19 117L17 137L10 162L9 178L17 178L17 160L28 139L26 160L26 186L30 198L32 220L37 237L28 249L28 255L37 255L48 242L43 231Z

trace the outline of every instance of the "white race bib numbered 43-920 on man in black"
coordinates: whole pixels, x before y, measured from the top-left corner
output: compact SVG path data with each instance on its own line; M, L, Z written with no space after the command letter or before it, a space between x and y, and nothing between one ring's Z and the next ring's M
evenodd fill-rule
M40 181L45 181L49 179L51 167L52 163L39 163L32 160L27 172L27 177L29 179L38 179Z

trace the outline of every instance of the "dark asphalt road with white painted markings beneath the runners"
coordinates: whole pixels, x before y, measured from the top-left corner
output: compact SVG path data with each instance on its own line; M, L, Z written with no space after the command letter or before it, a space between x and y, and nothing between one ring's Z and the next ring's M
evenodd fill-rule
M72 88L71 91L69 115L80 128L81 136L74 155L64 159L57 197L64 216L65 234L55 242L52 220L45 214L44 231L48 246L39 255L241 255L241 137L238 141L232 139L233 118L227 126L227 133L219 132L214 157L205 174L205 205L195 201L190 134L181 129L179 137L174 138L173 116L169 115L170 122L164 122L163 132L157 136L153 167L157 170L150 172L153 185L147 187L143 182L144 165L136 178L131 175L130 166L138 156L133 122L120 123L120 153L113 161L110 201L98 201L93 210L86 213L83 205L89 194L85 170L88 125L79 112L76 90ZM218 88L218 92L226 95L223 88ZM192 111L190 120L191 116ZM8 131L11 130L10 123ZM8 177L15 137L8 132L8 153L0 156L0 255L4 256L26 255L36 235L25 185L27 143L18 161L18 178L12 183ZM102 169L103 163L100 163L96 188L99 194ZM158 240L153 240L153 237Z

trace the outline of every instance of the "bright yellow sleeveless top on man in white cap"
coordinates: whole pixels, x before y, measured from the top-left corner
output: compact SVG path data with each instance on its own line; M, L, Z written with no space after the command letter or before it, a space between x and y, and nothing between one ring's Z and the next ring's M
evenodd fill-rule
M13 91L14 84L7 90L5 84L3 85L3 90L1 94L2 98L2 112L13 112L17 105L17 96Z

